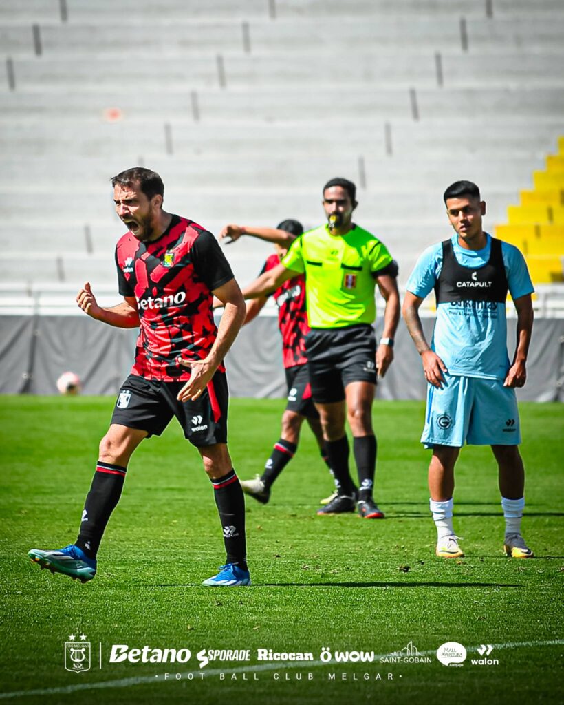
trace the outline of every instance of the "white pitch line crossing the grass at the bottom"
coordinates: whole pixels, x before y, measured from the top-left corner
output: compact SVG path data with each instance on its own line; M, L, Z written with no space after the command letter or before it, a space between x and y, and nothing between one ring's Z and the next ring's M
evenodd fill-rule
M564 644L564 639L552 639L548 642L507 642L506 644L491 644L494 649L522 649L527 646L560 646ZM477 646L468 647L468 651L475 651ZM432 649L431 651L420 651L421 656L432 656L432 654L437 653L437 649ZM0 700L7 700L8 698L22 698L29 697L31 695L56 695L56 694L69 694L79 692L81 690L96 690L104 688L127 688L130 685L141 685L143 683L164 683L164 682L175 682L175 680L182 680L189 678L190 675L194 678L196 675L201 675L203 673L204 680L211 675L219 675L220 673L260 673L264 670L288 670L289 668L313 668L314 666L332 666L333 668L344 668L345 666L350 668L351 666L364 666L368 668L373 663L380 661L380 658L389 656L389 654L375 654L373 661L289 661L289 663L261 663L255 666L238 666L237 668L211 668L210 670L189 670L186 673L181 673L182 678L170 678L165 680L164 678L154 676L154 675L142 675L134 678L120 678L119 680L103 680L97 683L75 683L75 685L65 685L57 688L41 688L36 690L14 690L11 693L0 693ZM168 665L168 664L167 664ZM385 666L385 664L383 664ZM174 666L174 664L170 664Z

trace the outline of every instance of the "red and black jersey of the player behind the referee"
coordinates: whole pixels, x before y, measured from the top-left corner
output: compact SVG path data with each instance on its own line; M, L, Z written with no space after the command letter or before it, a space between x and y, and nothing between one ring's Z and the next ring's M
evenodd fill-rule
M280 264L278 255L270 255L263 272ZM284 367L306 364L305 338L309 333L306 310L306 277L301 274L284 281L272 294L278 307L278 327L282 333L282 360Z

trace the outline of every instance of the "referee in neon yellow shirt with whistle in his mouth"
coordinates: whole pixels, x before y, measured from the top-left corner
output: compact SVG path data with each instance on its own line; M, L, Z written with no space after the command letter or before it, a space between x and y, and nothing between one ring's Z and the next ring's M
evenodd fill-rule
M372 402L377 375L394 359L399 322L398 266L383 243L352 221L356 186L334 178L323 188L327 224L303 233L282 262L246 287L256 298L300 274L306 276L311 331L306 355L313 401L320 415L337 496L318 514L352 512L355 503L365 519L383 519L373 498L377 443ZM386 301L384 333L376 347L375 286ZM348 419L358 470L358 501L349 472Z

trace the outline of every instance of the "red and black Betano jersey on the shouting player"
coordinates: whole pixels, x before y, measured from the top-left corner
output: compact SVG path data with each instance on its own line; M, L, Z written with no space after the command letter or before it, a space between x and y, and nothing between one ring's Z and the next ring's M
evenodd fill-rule
M120 294L134 297L139 337L132 374L162 381L189 379L177 360L202 360L217 328L212 291L233 278L217 240L187 218L173 216L158 240L127 232L115 248Z

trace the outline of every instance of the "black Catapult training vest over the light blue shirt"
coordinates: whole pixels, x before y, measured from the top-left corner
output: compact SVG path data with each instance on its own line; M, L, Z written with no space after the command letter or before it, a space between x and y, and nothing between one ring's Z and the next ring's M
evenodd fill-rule
M458 263L450 239L444 240L442 247L443 265L434 286L437 305L451 301L506 301L508 283L501 240L491 238L489 259L478 269Z

